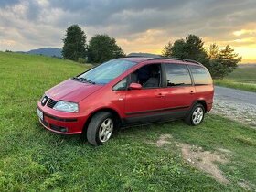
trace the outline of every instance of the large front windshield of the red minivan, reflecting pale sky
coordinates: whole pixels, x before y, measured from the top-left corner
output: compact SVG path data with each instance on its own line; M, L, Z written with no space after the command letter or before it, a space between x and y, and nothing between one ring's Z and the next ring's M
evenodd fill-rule
M114 59L108 62L102 63L100 66L91 69L80 76L77 79L92 82L93 84L107 84L111 80L120 76L124 71L130 69L136 62L129 60Z

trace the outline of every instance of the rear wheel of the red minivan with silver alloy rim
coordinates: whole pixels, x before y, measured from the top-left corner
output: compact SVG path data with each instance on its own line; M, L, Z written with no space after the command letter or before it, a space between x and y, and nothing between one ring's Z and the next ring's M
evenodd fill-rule
M202 104L197 103L193 106L191 111L188 113L185 118L185 122L188 125L197 126L203 122L205 117L205 108Z

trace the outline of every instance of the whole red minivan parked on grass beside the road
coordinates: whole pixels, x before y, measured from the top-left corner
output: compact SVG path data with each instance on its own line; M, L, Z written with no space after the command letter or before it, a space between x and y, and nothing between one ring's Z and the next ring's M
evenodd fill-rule
M112 59L65 80L37 102L42 125L55 133L84 133L106 143L122 126L182 118L198 125L212 108L214 87L202 64L189 59Z

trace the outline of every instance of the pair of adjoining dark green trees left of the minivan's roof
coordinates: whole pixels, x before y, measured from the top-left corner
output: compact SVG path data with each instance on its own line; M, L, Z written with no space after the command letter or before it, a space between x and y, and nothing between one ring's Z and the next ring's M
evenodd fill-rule
M116 40L108 35L95 35L86 43L86 35L78 25L72 25L66 30L63 39L62 56L64 59L82 63L101 63L110 59L125 57L123 49Z

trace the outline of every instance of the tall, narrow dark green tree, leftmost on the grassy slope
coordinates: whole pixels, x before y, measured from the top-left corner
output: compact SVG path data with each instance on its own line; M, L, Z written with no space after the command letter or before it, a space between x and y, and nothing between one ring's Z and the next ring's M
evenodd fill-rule
M66 30L63 39L62 56L64 59L77 61L86 57L86 35L78 25L72 25Z

